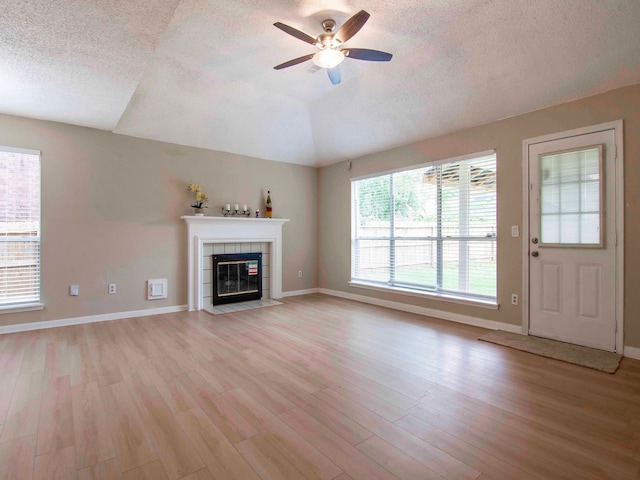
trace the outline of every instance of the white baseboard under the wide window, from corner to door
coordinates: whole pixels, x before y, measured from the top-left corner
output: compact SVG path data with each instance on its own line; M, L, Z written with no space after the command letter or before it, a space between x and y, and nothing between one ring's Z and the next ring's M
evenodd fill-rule
M485 320L484 318L476 318L470 317L468 315L443 312L442 310L435 310L433 308L408 305L406 303L392 302L390 300L381 300L379 298L367 297L365 295L356 295L354 293L340 292L338 290L329 290L326 288L320 288L319 290L319 293L324 293L326 295L346 298L348 300L355 300L356 302L370 303L372 305L392 308L394 310L400 310L403 312L416 313L418 315L424 315L426 317L439 318L441 320L463 323L465 325L473 325L474 327L488 328L490 330L504 330L505 332L522 333L522 327L520 325L509 325L507 323L496 322L493 320Z

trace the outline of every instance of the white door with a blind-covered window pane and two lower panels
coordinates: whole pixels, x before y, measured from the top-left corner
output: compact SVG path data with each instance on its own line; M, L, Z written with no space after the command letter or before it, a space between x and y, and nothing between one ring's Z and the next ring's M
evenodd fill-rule
M528 148L529 333L615 351L615 131Z

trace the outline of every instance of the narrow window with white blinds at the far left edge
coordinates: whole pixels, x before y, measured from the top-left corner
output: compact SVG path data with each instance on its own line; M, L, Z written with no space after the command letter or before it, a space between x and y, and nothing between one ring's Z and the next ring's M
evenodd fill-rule
M0 147L0 310L40 302L40 152Z

